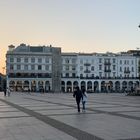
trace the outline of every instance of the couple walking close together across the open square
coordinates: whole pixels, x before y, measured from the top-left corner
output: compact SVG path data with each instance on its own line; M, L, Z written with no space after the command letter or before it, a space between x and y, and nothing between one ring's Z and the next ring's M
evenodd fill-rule
M83 111L85 111L85 104L87 102L87 93L85 91L85 88L82 88L82 90L80 90L79 87L77 86L76 90L73 93L73 97L76 99L78 112L80 112L81 99L82 99Z

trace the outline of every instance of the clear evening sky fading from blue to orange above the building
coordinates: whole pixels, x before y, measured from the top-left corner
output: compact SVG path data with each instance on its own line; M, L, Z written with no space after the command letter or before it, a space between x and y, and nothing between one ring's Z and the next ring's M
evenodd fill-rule
M140 48L139 24L140 0L0 0L0 72L11 44L77 53Z

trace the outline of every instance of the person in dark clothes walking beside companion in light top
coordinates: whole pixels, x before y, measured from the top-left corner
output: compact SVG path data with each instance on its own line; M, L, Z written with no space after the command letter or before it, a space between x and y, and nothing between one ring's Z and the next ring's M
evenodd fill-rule
M73 97L76 99L76 103L77 103L77 109L78 112L80 112L80 101L82 99L82 91L79 89L79 87L76 87L76 90L73 93Z

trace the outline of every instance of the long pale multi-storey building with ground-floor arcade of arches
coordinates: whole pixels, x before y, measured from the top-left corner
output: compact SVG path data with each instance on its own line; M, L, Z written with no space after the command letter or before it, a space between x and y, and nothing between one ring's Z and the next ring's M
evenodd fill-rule
M50 46L9 46L7 86L13 91L124 92L139 87L140 51L64 53Z

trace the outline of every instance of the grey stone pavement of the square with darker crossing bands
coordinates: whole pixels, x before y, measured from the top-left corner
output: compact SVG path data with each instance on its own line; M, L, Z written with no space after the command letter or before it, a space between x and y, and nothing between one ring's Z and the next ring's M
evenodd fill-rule
M140 97L89 94L86 107L72 94L0 93L0 140L140 140Z

